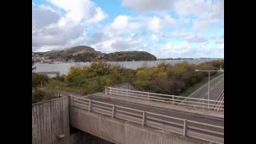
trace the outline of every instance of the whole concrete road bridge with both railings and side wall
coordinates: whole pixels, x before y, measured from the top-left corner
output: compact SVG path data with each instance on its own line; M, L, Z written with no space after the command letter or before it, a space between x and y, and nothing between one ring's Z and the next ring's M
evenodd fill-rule
M129 84L106 87L105 93L82 97L69 96L66 99L69 102L63 106L64 110L61 110L62 114L63 111L68 111L64 114L66 114L65 118L69 119L63 121L60 118L58 123L66 122L65 125L68 126L67 122L69 122L70 126L109 142L120 144L224 143L224 94L218 101L210 101L210 107L205 99L179 105L185 98L142 92ZM50 106L54 107L53 104ZM58 115L49 114L49 107L44 111L48 112L47 115L54 117ZM51 118L46 119L49 121ZM36 125L36 121L33 122ZM55 126L54 123L50 125ZM68 132L65 134L69 135ZM43 143L36 140L34 142Z

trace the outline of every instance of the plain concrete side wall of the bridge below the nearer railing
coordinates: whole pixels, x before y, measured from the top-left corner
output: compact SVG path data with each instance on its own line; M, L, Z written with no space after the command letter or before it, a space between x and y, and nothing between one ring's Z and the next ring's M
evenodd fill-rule
M171 134L131 122L90 113L70 107L70 124L79 130L94 134L116 144L200 144L207 143L195 138Z

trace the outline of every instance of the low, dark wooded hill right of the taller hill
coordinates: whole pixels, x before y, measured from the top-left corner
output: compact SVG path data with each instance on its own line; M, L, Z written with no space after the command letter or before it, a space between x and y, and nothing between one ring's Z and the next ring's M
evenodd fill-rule
M105 54L101 59L105 61L150 61L157 58L145 51L120 51Z

